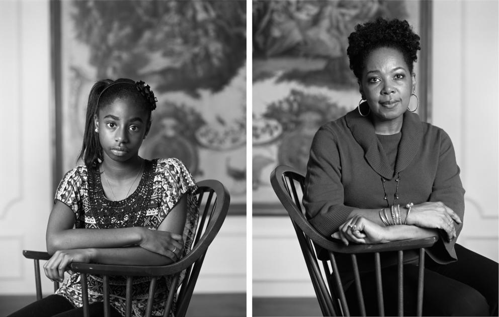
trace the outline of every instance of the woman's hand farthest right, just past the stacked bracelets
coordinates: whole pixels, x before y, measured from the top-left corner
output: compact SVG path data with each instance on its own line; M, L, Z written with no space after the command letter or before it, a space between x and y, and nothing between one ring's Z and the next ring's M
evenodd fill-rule
M407 225L444 230L449 241L457 237L454 222L462 224L454 210L440 201L423 202L412 206L407 218Z

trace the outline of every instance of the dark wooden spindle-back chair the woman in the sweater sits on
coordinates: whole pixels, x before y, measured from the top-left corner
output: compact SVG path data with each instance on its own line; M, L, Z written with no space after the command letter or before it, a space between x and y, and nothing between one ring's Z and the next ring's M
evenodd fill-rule
M364 295L361 287L357 255L364 253L374 254L375 267L373 271L376 276L378 313L379 316L384 316L380 252L389 251L397 252L397 311L399 316L403 316L403 251L412 249L419 249L417 314L418 316L422 315L425 248L433 246L438 240L438 237L395 241L383 244L351 243L347 247L339 240L335 239L335 242L326 239L308 222L305 215L305 208L303 207L301 201L305 181L305 177L303 175L292 167L281 165L272 172L270 180L276 195L279 197L279 200L291 218L320 309L324 316L350 316L350 309L345 296L341 272L338 270L336 260L336 255L339 253L351 255L352 271L355 278L354 284L357 290L358 304L360 306L359 311L363 316L366 315L366 309L364 305ZM318 265L317 261L317 247L327 250L328 253L328 259L321 260L322 269ZM324 276L327 283L324 282Z

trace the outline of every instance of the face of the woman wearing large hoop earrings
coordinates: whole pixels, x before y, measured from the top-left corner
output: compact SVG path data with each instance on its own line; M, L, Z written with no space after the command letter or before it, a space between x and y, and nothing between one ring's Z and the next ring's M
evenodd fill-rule
M409 72L402 53L381 47L367 56L359 90L374 120L392 121L402 118L415 85L415 74Z

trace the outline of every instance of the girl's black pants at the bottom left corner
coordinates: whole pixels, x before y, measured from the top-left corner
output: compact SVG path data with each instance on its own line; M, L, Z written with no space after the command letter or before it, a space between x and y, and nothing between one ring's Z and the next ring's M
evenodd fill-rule
M112 317L121 317L121 314L111 307ZM104 303L95 302L89 305L90 316L100 317L104 315ZM7 317L82 317L83 308L74 306L60 295L50 295L37 300L28 306L10 314Z

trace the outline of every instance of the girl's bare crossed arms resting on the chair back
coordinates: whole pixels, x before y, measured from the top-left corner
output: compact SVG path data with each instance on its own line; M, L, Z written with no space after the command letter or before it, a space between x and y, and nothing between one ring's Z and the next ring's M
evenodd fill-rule
M145 227L118 229L72 229L73 211L56 201L47 226L47 251L52 254L43 266L51 280L64 279L72 262L120 265L167 265L182 254L186 222L186 195L172 208L157 231ZM168 221L167 221L168 219Z

